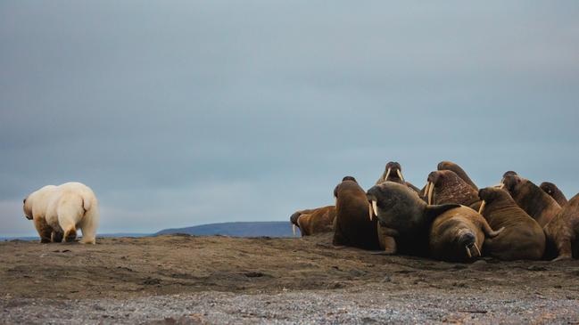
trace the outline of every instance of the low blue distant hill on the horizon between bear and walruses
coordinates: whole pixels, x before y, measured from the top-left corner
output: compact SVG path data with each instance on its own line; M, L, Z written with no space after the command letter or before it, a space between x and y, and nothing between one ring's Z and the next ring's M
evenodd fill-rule
M292 225L287 221L266 221L250 223L208 223L194 227L165 229L153 234L168 235L186 233L197 236L224 235L234 237L294 237ZM299 235L299 232L297 232Z

